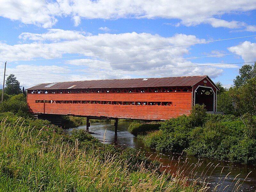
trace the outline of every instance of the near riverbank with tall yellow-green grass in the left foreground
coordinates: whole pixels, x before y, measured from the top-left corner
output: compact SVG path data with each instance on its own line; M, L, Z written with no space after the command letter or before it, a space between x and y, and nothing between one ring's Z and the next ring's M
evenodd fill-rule
M160 173L143 152L84 130L64 134L48 121L0 114L2 191L205 191L197 180Z

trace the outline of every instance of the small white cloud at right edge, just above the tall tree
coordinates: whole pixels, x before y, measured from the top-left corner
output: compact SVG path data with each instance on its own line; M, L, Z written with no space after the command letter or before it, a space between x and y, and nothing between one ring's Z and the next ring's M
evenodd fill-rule
M242 57L245 62L251 62L256 60L256 43L250 41L244 41L243 43L228 48L228 51L237 53ZM252 53L239 53L239 52L252 52Z

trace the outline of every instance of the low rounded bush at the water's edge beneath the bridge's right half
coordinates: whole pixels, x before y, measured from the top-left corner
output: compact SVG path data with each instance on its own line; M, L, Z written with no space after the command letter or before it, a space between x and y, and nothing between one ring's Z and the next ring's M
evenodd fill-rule
M146 134L147 132L151 132L154 130L158 130L161 126L160 122L141 122L134 121L128 128L128 131L133 135L137 136L138 134Z

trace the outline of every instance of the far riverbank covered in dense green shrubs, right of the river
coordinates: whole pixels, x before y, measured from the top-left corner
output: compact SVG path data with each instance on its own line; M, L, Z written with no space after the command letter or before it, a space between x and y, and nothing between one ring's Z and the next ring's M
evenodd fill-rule
M198 106L191 115L162 123L132 123L145 146L160 151L242 164L256 163L256 117L245 115L210 115ZM155 130L152 130L154 127ZM156 127L159 127L156 129ZM142 129L143 128L143 129ZM129 128L130 129L130 128Z

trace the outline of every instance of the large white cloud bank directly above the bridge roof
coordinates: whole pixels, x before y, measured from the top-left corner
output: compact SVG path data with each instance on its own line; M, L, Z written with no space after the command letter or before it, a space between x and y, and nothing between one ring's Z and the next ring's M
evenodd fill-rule
M67 35L65 35L65 33ZM71 37L72 34L73 37ZM153 47L189 44L205 41L204 39L198 39L196 36L193 35L176 34L172 37L162 37L149 33L138 34L132 32L123 34L98 34L86 36L83 32L52 29L48 30L46 33L43 34L23 33L20 35L20 38L28 42L33 42L16 45L0 43L0 58L2 62L4 62L5 60L10 61L28 60L34 58L56 58L63 56L63 54L99 54L91 56L89 58L83 57L81 59L63 59L61 60L61 68L58 69L56 69L56 66L53 65L53 63L56 63L56 60L47 61L48 63L51 63L48 64L49 66L29 65L30 62L23 61L22 65L20 65L20 62L17 62L18 66L16 68L7 68L8 74L17 74L17 78L26 87L32 86L32 84L38 84L40 82L42 83L104 78L163 77L205 74L210 74L210 76L214 78L221 75L223 72L222 68L216 66L180 68L184 66L197 65L191 61L184 59L185 55L188 54L189 50L192 48L192 45L122 52L128 50L148 49ZM58 39L57 42L54 41L55 38ZM50 42L45 42L46 40ZM122 53L101 54L110 52ZM156 60L170 61L155 62ZM153 62L123 64L144 61ZM36 62L37 61L33 61L34 64ZM66 68L67 66L70 66L71 68ZM80 66L83 67L80 68ZM229 66L229 68L233 67L234 66ZM150 68L165 69L152 70ZM0 70L3 70L3 66L0 67ZM108 72L99 73L99 71ZM38 73L41 74L66 72L77 74L36 75L33 76L37 77L33 78L33 81L31 81L30 79L31 76L18 75L28 73L35 75ZM81 72L85 73L79 74Z

